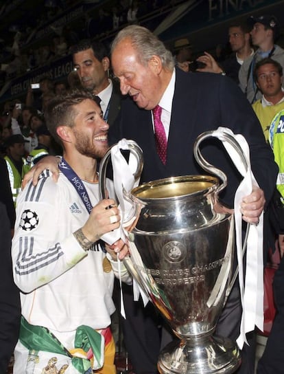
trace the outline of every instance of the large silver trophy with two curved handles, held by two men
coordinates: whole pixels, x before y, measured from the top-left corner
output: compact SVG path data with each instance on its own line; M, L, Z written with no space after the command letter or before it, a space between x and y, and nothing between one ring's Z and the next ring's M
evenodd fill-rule
M132 254L124 263L179 338L160 353L158 370L163 374L233 373L241 362L235 342L213 336L235 276L233 216L217 199L226 175L199 151L200 142L210 136L198 137L194 154L217 177L169 177L125 192L137 223L130 235ZM233 137L226 136L241 155ZM139 160L139 174L141 150L128 142ZM103 198L109 157L110 150L99 172Z

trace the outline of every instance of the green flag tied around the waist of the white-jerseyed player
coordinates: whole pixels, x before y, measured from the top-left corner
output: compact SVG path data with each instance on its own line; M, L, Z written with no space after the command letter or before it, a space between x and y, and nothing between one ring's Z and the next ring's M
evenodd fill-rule
M99 369L104 365L104 336L88 326L81 325L76 329L74 349L68 351L49 329L29 325L22 316L19 340L29 350L68 356L82 374L90 368Z

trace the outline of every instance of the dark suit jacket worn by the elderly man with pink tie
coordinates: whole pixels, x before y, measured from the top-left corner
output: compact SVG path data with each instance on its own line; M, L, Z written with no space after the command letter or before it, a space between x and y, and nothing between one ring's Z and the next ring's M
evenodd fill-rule
M121 138L135 140L143 150L141 182L176 175L206 174L193 156L196 137L204 131L225 126L246 137L250 146L252 171L268 201L276 183L277 166L265 143L261 125L248 100L232 80L220 74L185 73L176 69L176 86L171 109L171 124L164 166L156 153L151 111L139 109L131 98L121 105L119 118L110 128L110 143ZM241 177L218 140L202 143L204 158L228 177L228 186L220 195L233 206Z

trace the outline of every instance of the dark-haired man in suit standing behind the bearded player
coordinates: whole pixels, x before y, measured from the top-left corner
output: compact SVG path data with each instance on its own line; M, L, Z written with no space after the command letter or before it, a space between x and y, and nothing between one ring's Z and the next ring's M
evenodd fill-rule
M73 64L82 86L93 94L111 126L121 105L118 85L108 78L110 59L104 44L89 39L80 41L70 49Z

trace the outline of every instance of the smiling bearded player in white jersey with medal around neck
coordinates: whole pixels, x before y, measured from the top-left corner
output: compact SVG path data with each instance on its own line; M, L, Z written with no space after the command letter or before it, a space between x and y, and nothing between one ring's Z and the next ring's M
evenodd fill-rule
M14 373L115 374L113 281L117 256L128 248L100 240L120 225L115 200L99 201L97 159L108 148L108 124L84 91L51 100L45 118L63 157L57 183L45 170L19 195L12 261L22 320ZM122 264L120 274L131 282Z

